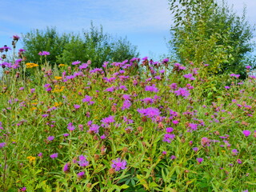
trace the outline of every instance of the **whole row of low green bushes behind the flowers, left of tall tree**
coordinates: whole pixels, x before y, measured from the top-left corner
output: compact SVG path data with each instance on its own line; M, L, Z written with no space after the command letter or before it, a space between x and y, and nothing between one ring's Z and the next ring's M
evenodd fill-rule
M51 65L74 61L90 60L95 67L103 62L122 62L125 59L138 57L136 46L132 46L126 38L112 38L91 24L89 31L81 34L58 34L55 28L47 27L46 31L34 30L23 35L27 62L40 60L39 51L49 51L47 61Z

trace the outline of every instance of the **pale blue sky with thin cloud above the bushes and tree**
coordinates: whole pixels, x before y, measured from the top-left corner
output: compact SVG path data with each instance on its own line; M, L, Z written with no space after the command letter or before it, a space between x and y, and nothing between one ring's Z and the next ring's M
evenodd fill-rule
M227 2L234 4L238 14L246 5L250 24L256 23L256 0ZM126 37L138 46L141 57L168 54L172 19L167 0L0 0L0 4L0 46L10 46L13 34L46 26L56 26L60 33L78 33L93 21L108 34Z

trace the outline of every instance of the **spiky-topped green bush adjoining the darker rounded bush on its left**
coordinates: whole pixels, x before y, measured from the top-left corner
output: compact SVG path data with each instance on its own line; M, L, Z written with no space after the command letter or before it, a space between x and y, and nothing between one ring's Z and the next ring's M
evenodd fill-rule
M90 60L92 66L100 67L105 61L122 62L123 60L138 57L136 46L132 46L126 38L115 40L109 34L104 34L102 26L98 30L91 24L89 31L83 36L73 36L64 46L58 62L71 63L75 60L86 62Z

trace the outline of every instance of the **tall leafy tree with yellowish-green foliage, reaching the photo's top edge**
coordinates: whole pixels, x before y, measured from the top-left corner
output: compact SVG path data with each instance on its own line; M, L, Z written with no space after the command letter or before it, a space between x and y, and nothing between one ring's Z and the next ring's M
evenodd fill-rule
M210 74L244 72L246 54L253 50L254 29L246 22L246 10L237 16L226 2L169 0L174 14L170 41L180 62L206 62Z

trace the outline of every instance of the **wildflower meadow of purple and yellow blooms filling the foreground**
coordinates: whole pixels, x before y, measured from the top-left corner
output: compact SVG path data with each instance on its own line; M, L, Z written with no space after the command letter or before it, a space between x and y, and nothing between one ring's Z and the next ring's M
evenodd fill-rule
M256 191L250 66L241 79L169 58L93 68L0 50L1 191Z

